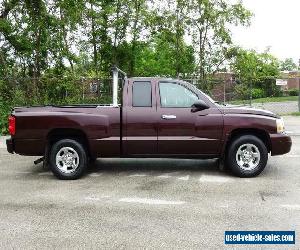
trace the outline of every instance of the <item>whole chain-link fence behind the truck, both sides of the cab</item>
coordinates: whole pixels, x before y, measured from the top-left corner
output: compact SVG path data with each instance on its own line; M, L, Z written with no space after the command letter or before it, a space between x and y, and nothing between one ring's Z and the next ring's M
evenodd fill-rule
M275 79L266 80L258 87L241 83L234 75L220 73L205 81L185 78L197 88L224 104L256 105L272 101L274 97L295 100L299 90L283 90L276 86ZM121 81L121 80L120 80ZM112 103L112 78L0 78L2 98L12 99L14 105ZM121 84L121 83L120 83ZM295 98L294 98L295 97ZM284 98L283 98L284 100ZM276 102L276 98L274 99Z

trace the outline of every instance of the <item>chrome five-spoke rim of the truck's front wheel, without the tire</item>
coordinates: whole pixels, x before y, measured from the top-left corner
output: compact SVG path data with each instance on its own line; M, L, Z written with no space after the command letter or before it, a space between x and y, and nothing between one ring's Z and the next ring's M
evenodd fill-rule
M236 153L236 162L243 170L253 170L260 162L260 152L254 144L243 144Z

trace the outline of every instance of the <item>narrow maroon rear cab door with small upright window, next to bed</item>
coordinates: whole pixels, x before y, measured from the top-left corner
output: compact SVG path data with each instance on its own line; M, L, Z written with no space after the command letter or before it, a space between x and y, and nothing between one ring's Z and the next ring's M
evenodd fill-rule
M157 154L155 85L151 80L130 79L123 111L123 151L128 156Z

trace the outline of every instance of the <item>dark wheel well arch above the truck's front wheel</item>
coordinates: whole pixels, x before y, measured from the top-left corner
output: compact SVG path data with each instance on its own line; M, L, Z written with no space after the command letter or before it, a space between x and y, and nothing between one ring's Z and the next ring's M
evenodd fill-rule
M227 150L229 148L230 143L239 136L242 135L254 135L262 140L262 142L266 145L268 152L271 152L271 139L265 130L261 129L235 129L230 133L230 137L227 140L226 143L226 149L225 153L227 153Z

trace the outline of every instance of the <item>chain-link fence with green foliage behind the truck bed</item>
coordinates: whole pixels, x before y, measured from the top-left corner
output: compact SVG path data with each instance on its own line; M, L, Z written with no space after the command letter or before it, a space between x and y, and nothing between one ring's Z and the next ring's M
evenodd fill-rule
M0 88L14 105L112 102L111 78L0 78Z

